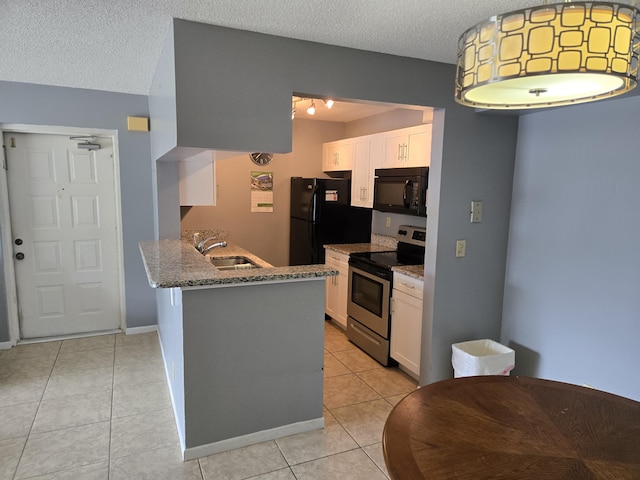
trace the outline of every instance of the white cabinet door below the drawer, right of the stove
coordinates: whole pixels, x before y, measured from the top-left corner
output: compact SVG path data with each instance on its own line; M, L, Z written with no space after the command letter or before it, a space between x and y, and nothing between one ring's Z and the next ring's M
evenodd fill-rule
M422 299L393 290L391 358L416 376L420 375L422 347Z

